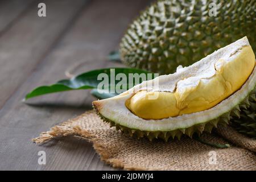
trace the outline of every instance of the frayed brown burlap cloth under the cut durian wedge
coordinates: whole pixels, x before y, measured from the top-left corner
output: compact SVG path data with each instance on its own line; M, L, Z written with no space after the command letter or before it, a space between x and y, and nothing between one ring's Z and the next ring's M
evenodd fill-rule
M44 143L67 135L93 143L101 160L113 167L135 170L256 170L256 140L237 133L231 127L220 128L202 137L212 143L230 143L216 148L187 137L163 142L135 139L110 128L94 111L86 111L33 139ZM220 137L222 136L222 137ZM225 138L225 139L224 139ZM213 153L210 151L214 151ZM216 154L216 155L215 155ZM214 156L213 156L214 155ZM216 159L216 163L212 161Z

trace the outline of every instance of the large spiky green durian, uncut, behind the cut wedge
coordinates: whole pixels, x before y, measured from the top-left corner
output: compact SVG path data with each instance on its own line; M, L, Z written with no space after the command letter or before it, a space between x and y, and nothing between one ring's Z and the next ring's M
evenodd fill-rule
M216 16L210 16L214 2ZM210 5L210 6L209 6ZM120 44L129 67L160 74L188 66L247 36L256 51L256 1L158 0L134 20ZM255 53L255 52L254 52Z

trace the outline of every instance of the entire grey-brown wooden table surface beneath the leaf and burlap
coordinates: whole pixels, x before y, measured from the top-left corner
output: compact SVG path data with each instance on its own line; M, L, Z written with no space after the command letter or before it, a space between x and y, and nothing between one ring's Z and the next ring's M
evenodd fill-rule
M46 17L38 3L46 3ZM36 145L31 139L57 123L92 109L89 90L49 94L24 104L26 93L76 73L120 67L106 55L118 49L127 25L147 0L0 1L0 169L114 170L85 140L66 138ZM46 152L46 165L38 152Z

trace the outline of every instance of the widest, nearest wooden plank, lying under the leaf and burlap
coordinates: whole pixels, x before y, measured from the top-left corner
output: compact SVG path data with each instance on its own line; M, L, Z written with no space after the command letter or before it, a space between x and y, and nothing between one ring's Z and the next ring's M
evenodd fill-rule
M64 39L0 110L0 169L114 169L100 162L92 144L84 140L68 138L43 146L30 142L49 127L92 109L95 98L88 90L34 98L29 101L30 105L20 100L35 86L63 78L65 70L74 64L86 61L80 71L114 65L106 60L106 55L118 47L127 24L147 4L147 0L91 2ZM46 151L47 156L47 164L43 166L38 164L40 150Z

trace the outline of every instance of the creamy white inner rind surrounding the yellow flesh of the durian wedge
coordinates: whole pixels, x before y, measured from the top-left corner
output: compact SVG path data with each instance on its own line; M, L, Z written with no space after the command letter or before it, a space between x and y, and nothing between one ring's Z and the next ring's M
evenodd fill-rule
M239 111L240 107L246 104L250 92L254 92L256 83L255 68L239 90L207 110L163 119L143 119L132 113L125 106L125 102L134 96L135 90L138 92L139 90L146 90L147 92L174 92L176 83L179 80L187 78L188 73L189 77L202 76L200 75L201 73L207 74L207 76L202 77L212 77L216 73L214 65L216 65L217 61L233 60L239 56L242 49L246 47L249 47L249 42L247 38L242 38L229 46L218 49L211 55L191 65L191 67L182 68L172 75L159 76L154 80L142 82L142 84L134 86L134 88L131 88L118 96L106 100L94 101L93 106L102 118L113 123L113 125L129 129L129 131L145 131L145 133L149 135L150 133L155 134L158 132L162 132L164 135L167 131L176 130L180 130L182 133L187 133L187 131L189 132L194 126L204 127L205 125L201 124L213 122L214 125L218 120L229 120L229 114ZM205 70L207 70L207 72L205 72ZM236 75L236 73L232 74ZM158 81L158 86L148 87L148 85L154 85L152 82L155 81Z

